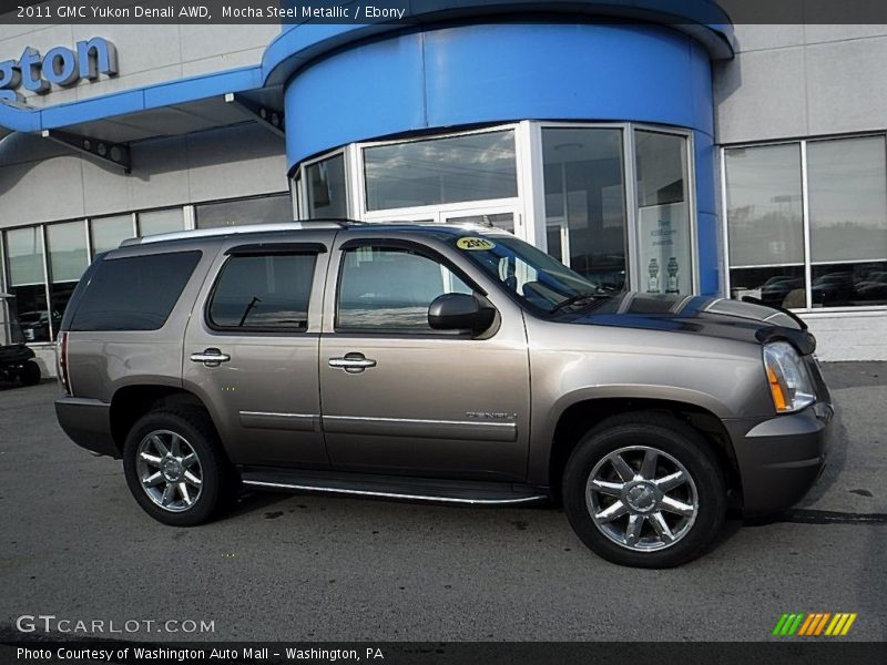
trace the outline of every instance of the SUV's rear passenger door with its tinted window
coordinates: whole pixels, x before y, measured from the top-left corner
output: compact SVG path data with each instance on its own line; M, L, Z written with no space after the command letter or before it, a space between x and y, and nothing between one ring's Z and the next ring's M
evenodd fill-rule
M201 299L212 304L188 325L184 383L208 405L234 463L329 467L317 376L329 255L313 247L222 256Z

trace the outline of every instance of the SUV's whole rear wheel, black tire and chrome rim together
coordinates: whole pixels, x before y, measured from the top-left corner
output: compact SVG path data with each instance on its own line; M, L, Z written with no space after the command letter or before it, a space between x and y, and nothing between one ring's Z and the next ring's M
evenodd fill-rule
M201 524L233 498L233 471L200 409L140 418L126 437L123 469L139 505L164 524Z

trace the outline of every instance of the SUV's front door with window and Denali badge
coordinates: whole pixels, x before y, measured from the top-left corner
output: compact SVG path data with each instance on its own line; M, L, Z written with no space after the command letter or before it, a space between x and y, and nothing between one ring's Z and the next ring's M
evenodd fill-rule
M489 339L431 330L430 301L473 285L431 255L404 252L412 250L334 252L329 274L343 284L327 289L320 339L323 424L334 468L522 480L530 396L520 311L500 310Z

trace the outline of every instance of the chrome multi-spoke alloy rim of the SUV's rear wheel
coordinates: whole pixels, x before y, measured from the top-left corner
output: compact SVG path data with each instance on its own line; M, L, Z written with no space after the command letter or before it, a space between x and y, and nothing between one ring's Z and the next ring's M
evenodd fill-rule
M135 471L149 498L170 512L190 509L203 491L197 453L170 430L155 430L142 439L135 451Z

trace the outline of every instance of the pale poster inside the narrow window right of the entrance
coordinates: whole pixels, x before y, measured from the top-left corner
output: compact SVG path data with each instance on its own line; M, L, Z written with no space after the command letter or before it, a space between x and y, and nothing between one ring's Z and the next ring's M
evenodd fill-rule
M642 207L639 226L642 290L651 294L691 293L693 266L686 203Z

